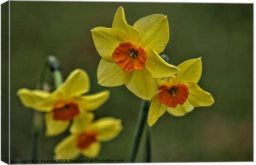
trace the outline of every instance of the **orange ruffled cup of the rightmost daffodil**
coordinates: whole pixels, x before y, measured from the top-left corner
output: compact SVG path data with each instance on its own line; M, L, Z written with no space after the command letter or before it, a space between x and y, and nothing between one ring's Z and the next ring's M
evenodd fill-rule
M162 90L158 94L159 102L172 108L175 108L178 104L183 105L189 94L188 87L185 84L174 84L171 87L163 85L158 90Z

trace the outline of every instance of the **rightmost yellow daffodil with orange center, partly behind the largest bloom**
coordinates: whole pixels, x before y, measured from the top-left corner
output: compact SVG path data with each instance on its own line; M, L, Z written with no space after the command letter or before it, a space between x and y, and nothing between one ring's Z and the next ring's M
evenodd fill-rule
M152 126L165 113L183 116L194 107L211 106L213 97L197 85L201 73L201 58L184 61L177 66L180 72L158 82L158 89L149 108L148 124Z

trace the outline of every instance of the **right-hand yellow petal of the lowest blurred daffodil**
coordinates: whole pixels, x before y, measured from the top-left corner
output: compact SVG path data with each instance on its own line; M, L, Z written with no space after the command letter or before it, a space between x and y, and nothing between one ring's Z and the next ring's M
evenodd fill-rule
M105 117L96 120L89 129L97 132L97 140L109 141L114 139L123 127L120 119Z

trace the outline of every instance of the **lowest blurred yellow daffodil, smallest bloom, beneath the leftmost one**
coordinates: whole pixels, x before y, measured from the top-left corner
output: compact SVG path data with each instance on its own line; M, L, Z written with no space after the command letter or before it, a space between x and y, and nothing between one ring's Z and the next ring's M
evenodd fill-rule
M121 120L105 117L92 122L94 115L85 113L74 120L71 135L54 149L55 159L77 158L81 153L94 158L100 152L100 142L114 139L122 130Z

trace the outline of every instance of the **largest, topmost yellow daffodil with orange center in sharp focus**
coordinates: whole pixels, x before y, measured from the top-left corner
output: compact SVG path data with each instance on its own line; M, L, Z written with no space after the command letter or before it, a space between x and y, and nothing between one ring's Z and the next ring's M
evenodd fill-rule
M169 40L167 16L152 14L130 26L123 7L119 7L112 28L97 27L91 32L102 57L97 70L100 85L125 84L135 95L148 100L154 94L156 78L170 77L179 71L159 56Z

